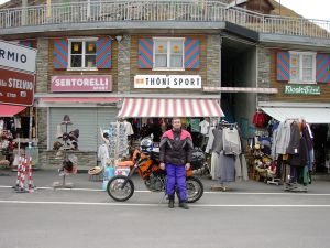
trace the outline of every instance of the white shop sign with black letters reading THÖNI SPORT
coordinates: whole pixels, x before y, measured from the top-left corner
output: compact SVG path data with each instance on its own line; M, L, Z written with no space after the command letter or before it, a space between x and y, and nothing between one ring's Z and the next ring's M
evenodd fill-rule
M201 88L198 75L136 75L134 88Z

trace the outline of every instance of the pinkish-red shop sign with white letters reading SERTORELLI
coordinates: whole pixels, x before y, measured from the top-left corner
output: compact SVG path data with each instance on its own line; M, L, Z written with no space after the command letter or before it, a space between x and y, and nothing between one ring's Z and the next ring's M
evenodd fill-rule
M53 76L52 91L112 91L111 75Z

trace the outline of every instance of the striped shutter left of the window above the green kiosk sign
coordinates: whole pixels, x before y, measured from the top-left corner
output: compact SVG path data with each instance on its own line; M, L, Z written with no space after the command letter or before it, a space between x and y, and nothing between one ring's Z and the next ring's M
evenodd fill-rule
M277 80L289 82L290 79L290 54L287 51L278 51L276 57Z

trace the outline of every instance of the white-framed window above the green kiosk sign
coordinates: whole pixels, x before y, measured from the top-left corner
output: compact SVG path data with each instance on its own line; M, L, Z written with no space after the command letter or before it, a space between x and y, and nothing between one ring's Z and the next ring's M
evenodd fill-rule
M290 52L290 83L316 84L316 53Z

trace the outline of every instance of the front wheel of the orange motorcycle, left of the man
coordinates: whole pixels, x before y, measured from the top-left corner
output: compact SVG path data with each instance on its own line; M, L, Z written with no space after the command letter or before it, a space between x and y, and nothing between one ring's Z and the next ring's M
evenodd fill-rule
M117 202L128 201L134 194L134 184L132 180L129 180L127 185L122 187L127 179L128 176L125 175L116 175L107 185L108 194Z

